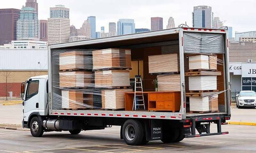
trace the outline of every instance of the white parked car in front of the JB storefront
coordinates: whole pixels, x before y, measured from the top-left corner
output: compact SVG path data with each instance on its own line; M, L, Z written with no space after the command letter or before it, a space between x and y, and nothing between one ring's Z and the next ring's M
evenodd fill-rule
M236 95L236 107L256 107L256 92L255 91L240 91Z

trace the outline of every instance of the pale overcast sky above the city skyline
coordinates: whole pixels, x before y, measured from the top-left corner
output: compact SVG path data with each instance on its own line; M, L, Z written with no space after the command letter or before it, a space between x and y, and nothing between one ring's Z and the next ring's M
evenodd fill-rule
M21 9L26 0L8 0L0 8ZM192 26L193 7L208 5L212 7L214 17L226 20L224 25L233 26L235 31L255 31L255 0L37 0L38 18L49 18L50 7L65 5L70 9L70 25L80 28L88 16L96 16L96 31L119 18L134 19L135 28L150 29L150 17L162 17L166 28L170 16L174 18L175 27L187 22ZM233 36L234 37L234 36Z

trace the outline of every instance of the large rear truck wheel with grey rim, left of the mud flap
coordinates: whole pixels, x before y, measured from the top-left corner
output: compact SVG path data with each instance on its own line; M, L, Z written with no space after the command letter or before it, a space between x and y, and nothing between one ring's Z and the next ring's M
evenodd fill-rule
M140 145L146 143L145 129L138 120L126 120L123 125L122 134L128 145ZM144 141L143 141L144 140Z

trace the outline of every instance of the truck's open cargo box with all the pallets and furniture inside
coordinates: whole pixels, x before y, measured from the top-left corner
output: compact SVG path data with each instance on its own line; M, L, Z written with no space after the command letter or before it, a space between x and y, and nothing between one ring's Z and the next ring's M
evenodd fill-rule
M225 33L174 28L52 45L51 113L178 120L228 114Z

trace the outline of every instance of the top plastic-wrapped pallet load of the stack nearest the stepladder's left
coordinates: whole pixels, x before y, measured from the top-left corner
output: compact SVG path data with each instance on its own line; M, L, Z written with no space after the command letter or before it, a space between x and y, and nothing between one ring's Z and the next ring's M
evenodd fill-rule
M131 49L109 48L92 52L93 69L131 68Z

